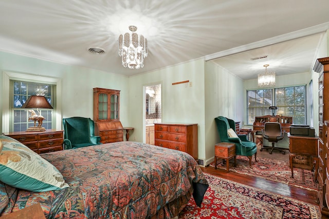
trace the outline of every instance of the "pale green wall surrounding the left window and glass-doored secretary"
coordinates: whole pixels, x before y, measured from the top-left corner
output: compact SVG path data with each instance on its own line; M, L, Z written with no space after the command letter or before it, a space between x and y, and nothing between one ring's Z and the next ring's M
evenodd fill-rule
M97 71L84 67L67 66L25 57L12 53L0 52L0 86L3 85L3 72L17 72L61 78L62 80L62 116L82 116L93 118L93 88L109 88L121 90L120 118L123 126L129 123L129 87L128 77L119 74ZM0 87L2 92L2 87ZM0 95L0 114L3 114L3 99L9 96ZM2 116L0 117L0 133L2 133Z

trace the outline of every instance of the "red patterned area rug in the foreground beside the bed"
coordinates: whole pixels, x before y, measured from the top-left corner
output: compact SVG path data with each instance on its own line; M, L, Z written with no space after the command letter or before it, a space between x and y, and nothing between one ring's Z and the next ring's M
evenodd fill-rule
M319 206L205 175L209 188L201 207L192 197L178 218L321 218Z

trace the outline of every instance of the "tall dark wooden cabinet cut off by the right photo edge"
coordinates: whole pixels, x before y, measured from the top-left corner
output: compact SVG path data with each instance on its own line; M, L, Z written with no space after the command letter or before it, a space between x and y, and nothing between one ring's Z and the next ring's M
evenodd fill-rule
M328 196L329 186L329 172L327 170L327 129L329 120L329 57L318 58L313 70L319 73L319 202L322 208L322 215L329 215L328 204L326 196Z

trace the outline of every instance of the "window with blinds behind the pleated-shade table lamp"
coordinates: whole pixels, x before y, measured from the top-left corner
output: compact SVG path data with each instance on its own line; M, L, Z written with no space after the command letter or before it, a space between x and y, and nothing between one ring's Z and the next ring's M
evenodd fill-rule
M9 119L10 131L25 131L28 127L33 127L34 122L29 122L30 113L28 109L22 109L22 105L26 102L30 95L46 96L48 102L54 108L56 84L21 81L19 79L10 79L10 111ZM42 127L45 129L56 128L53 115L53 109L32 109L38 115L45 117ZM38 125L38 124L36 124Z

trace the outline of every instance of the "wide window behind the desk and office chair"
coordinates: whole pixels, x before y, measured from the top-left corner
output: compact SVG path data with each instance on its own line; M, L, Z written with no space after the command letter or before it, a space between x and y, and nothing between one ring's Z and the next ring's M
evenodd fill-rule
M269 106L277 106L277 114L293 116L294 124L306 124L306 86L247 91L248 124L255 116L271 115Z

